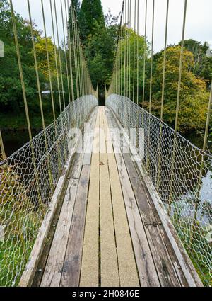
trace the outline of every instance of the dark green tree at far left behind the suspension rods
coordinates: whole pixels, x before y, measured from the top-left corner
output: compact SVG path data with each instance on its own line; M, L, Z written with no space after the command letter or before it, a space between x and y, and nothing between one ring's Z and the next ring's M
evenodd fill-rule
M20 55L23 63L25 89L27 96L35 96L35 72L33 70L33 56L29 53L32 42L30 27L27 21L15 15L18 32ZM4 42L4 58L1 58L0 75L0 109L1 111L17 112L23 107L23 94L20 85L20 75L13 38L11 11L7 1L0 4L0 39ZM36 32L37 35L37 32ZM11 68L13 66L13 68Z

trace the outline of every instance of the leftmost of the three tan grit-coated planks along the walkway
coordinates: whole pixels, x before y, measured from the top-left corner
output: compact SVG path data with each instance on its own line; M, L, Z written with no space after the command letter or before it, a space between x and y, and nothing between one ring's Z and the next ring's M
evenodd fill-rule
M95 124L93 149L99 149L100 111ZM93 152L90 167L90 186L86 214L86 229L83 242L83 259L80 286L99 285L99 207L100 207L100 155Z

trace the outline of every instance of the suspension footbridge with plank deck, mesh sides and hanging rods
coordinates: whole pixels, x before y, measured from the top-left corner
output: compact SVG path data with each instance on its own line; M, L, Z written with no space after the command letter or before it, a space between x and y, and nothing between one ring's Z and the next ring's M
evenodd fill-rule
M0 132L3 157L0 163L0 285L211 285L211 211L204 215L202 195L204 201L211 203L212 182L203 188L202 181L206 174L210 174L212 161L207 149L212 85L202 149L177 132L187 0L184 1L175 129L163 122L169 0L165 20L161 118L151 114L151 96L149 111L144 109L146 53L143 55L143 91L140 91L136 74L139 72L136 68L140 59L139 40L134 41L134 47L129 42L129 29L139 32L141 9L146 12L146 39L148 1L142 8L139 0L123 2L112 81L110 89L105 88L105 106L98 106L98 90L93 89L86 67L74 8L69 0L60 1L64 40L62 57L59 11L55 0L48 0L59 118L56 118L54 109L46 12L43 1L40 1L54 115L54 123L48 127L45 126L28 0L43 127L35 137L28 112L13 1L9 2L29 142L6 157ZM134 26L131 16L134 16ZM154 16L155 0L150 89L153 84ZM136 54L133 62L132 52ZM129 66L133 67L133 74L130 74ZM68 106L63 93L64 74L67 75ZM133 86L133 93L130 86ZM143 104L139 103L140 97Z

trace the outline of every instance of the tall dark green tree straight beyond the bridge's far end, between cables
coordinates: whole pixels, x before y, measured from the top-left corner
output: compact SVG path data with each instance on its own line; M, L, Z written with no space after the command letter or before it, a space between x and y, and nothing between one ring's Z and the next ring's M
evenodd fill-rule
M100 0L83 0L78 13L78 28L90 77L94 87L99 84L100 93L104 91L105 83L110 84L119 30L118 18L112 16L110 11L104 16ZM71 8L69 23L72 37Z

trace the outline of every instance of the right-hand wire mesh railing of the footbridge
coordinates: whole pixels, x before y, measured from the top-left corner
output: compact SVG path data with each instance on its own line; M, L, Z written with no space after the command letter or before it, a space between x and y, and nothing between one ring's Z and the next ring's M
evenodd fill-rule
M212 276L212 156L129 98L106 101L126 130L136 129L134 147L205 285ZM141 131L143 129L142 137ZM142 144L138 143L143 141Z

